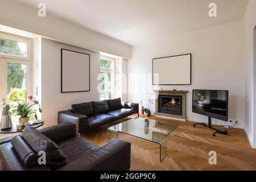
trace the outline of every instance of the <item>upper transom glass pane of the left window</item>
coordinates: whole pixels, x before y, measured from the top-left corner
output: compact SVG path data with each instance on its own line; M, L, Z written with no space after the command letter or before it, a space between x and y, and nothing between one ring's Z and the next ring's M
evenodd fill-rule
M0 38L0 53L6 55L14 55L27 57L27 44Z

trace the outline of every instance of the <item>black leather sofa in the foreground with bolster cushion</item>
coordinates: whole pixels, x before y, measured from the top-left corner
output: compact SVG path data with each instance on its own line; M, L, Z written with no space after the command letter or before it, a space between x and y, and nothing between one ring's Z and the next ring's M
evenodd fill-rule
M35 130L27 126L22 135L0 144L0 169L7 171L129 170L129 142L114 140L98 147L76 137L76 125L63 123ZM1 141L0 141L1 142ZM46 164L38 164L38 152L46 152Z

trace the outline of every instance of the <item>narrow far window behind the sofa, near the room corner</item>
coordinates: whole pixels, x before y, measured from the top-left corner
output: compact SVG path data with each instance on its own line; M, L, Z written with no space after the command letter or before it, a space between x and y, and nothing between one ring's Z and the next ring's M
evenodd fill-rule
M100 60L100 97L101 100L114 98L115 91L115 59L101 56Z

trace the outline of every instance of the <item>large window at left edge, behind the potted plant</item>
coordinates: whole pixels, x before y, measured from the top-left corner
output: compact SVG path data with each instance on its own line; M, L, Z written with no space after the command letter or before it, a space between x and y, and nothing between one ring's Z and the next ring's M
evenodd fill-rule
M10 107L27 102L31 94L31 44L32 39L0 32L0 106L3 102Z

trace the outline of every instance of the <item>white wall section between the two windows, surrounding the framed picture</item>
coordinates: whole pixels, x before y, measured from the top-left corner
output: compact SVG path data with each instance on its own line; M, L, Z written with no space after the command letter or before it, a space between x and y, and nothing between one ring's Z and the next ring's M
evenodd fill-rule
M90 55L90 92L61 93L61 48ZM71 109L72 104L100 100L97 86L100 83L100 53L42 39L42 119L44 127L57 124L57 113Z

